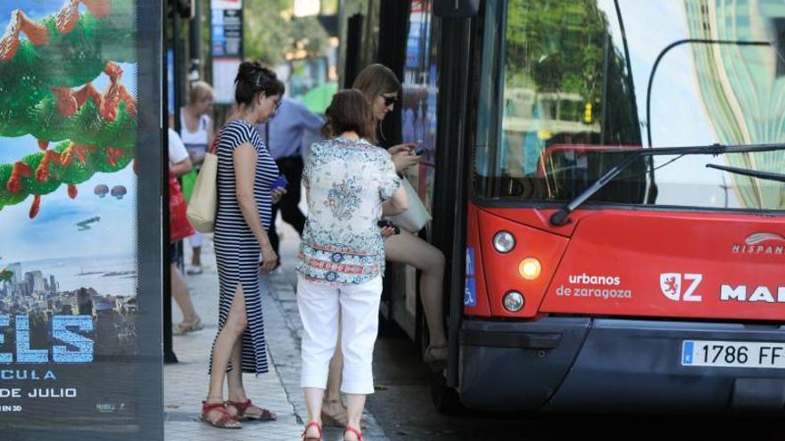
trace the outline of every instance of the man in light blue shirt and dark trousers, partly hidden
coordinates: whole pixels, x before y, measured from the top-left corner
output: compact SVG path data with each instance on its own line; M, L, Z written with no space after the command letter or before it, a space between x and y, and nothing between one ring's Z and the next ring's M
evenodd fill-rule
M300 203L302 181L302 136L306 131L318 133L321 127L322 118L308 110L302 103L288 97L281 100L275 118L270 119L267 124L256 127L270 155L276 159L278 170L289 182L284 197L273 205L273 222L270 223L268 232L276 254L279 253L275 219L279 209L284 221L292 225L297 233L302 235L302 230L305 228L305 215L297 207Z

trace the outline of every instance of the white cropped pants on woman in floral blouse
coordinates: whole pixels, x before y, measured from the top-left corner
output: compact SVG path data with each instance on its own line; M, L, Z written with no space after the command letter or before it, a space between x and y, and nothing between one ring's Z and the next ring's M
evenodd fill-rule
M374 375L371 368L379 327L379 299L382 277L359 285L332 287L297 280L297 306L302 319L303 388L327 387L330 359L338 339L338 312L342 318L341 350L345 394L372 394Z

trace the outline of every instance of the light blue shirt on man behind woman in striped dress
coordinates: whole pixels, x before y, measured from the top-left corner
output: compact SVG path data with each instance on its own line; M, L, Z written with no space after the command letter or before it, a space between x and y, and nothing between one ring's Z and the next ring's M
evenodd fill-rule
M318 132L322 127L322 118L308 110L302 103L284 97L276 116L270 119L267 125L269 125L269 139L266 138L265 124L257 125L256 129L267 145L270 155L274 159L281 159L298 155L302 135L306 130Z

